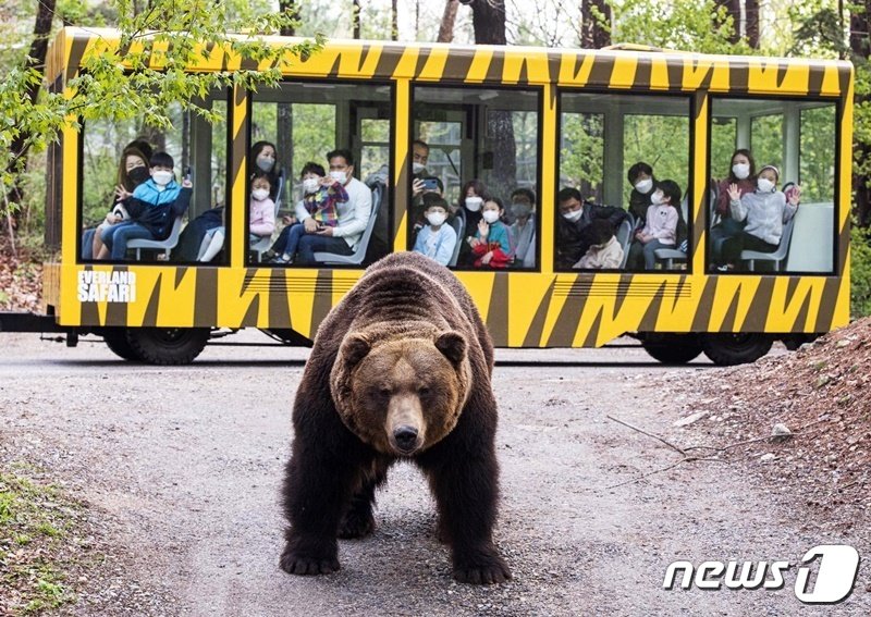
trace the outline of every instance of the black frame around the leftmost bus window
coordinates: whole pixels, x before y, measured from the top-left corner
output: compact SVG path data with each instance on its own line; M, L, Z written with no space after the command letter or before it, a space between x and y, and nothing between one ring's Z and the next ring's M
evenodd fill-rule
M230 180L231 178L230 171L233 169L231 166L232 162L233 162L233 150L232 150L232 147L233 147L233 136L232 136L232 133L233 133L233 129L232 129L232 127L233 127L233 88L230 87L230 86L224 86L223 89L225 91L224 101L226 102L226 119L224 121L225 124L226 124L226 131L224 132L225 136L226 136L226 160L224 162L226 164L226 170L228 170L226 177L224 178L224 212L232 212L231 208L232 208L232 199L233 199L232 195L233 195L233 193L231 190L232 183L231 183L231 180ZM221 100L221 99L222 99L221 97L216 97L214 98L214 100ZM183 113L193 113L189 110L182 110L182 111L183 111ZM76 148L77 157L78 157L78 164L77 164L77 169L76 169L76 176L77 177L76 177L76 213L75 213L75 223L76 223L75 264L76 266L127 266L127 267L136 266L136 267L159 267L159 268L164 268L168 264L171 264L171 266L187 266L187 267L189 267L189 266L204 266L201 262L199 262L197 260L193 260L193 261L174 261L174 260L160 261L160 260L157 260L157 259L152 259L152 260L148 260L148 261L139 261L139 260L136 260L136 259L124 259L124 260L121 260L121 261L115 261L113 259L90 259L90 260L85 260L85 259L82 258L82 236L85 233L85 227L84 227L84 224L85 224L85 221L84 221L84 213L85 213L85 208L84 208L84 206L85 206L84 205L85 176L84 176L84 173L83 173L83 171L84 171L83 168L84 168L84 161L85 161L86 122L85 122L85 120L83 118L79 116L78 118L78 123L79 123L79 126L82 126L82 128L81 128L81 131L78 131L76 133L76 139L78 140L77 148ZM159 150L155 149L155 152L158 152L158 151ZM179 158L177 161L175 160L175 157L173 157L173 161L175 162L176 166L182 163L181 157ZM150 168L151 168L150 161L146 161L146 163L148 165L148 169L150 170ZM182 170L181 173L184 173L184 171ZM181 177L176 180L176 182L179 182L180 186L181 186L181 180L182 180ZM214 206L212 205L212 207L214 207ZM204 212L205 212L205 210L204 210ZM189 214L189 206L188 206L188 210L185 213ZM230 233L231 233L232 223L231 223L230 219L231 219L231 217L225 217L224 218L224 226L226 229L225 237L230 237ZM189 223L191 223L191 220L188 220L188 224ZM99 226L99 224L100 223L97 223L97 226ZM230 254L228 252L228 259L225 259L224 263L210 263L209 266L212 266L212 267L216 267L216 268L229 267L230 266L229 257L230 257Z

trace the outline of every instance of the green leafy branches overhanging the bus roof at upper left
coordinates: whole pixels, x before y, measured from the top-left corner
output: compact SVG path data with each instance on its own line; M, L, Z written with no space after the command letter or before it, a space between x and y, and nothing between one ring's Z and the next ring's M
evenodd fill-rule
M89 46L65 95L41 88L36 101L30 101L26 92L41 84L41 65L28 69L22 63L0 81L0 170L5 171L0 182L4 192L23 171L27 155L44 150L68 122L77 127L79 120L135 118L145 125L169 128L168 110L173 102L213 121L217 112L197 104L207 92L234 84L252 89L273 86L289 59L316 53L324 40L318 35L294 45L267 42L262 35L277 35L293 24L293 16L287 11L274 12L265 2L152 0L140 13L131 0L107 4L120 40ZM68 18L84 18L86 4L68 0L59 10ZM99 22L102 16L90 21ZM203 66L212 50L240 59L246 69L233 71L230 64L226 70L185 72L185 67L196 71Z

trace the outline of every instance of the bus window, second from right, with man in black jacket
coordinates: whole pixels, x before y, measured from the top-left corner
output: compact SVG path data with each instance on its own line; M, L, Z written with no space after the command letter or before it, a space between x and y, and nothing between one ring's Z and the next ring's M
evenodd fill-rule
M555 268L686 268L689 99L563 91L560 110Z

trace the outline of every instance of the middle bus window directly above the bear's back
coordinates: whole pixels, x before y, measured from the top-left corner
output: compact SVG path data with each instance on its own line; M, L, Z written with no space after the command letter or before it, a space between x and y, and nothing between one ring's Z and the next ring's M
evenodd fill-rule
M429 146L426 169L415 175L434 176L441 183L437 190L443 194L451 214L445 224L454 227L458 243L453 255L444 256L447 266L537 268L540 99L539 91L516 88L415 87L413 139ZM475 236L482 210L489 206L466 207L463 189L475 193L468 188L473 181L503 205L504 243L495 242L502 237L496 233L489 238L492 250L482 254L474 246L478 244ZM419 230L427 225L425 203L429 199L425 192L415 195L409 205L408 246L416 250L424 250L416 243Z

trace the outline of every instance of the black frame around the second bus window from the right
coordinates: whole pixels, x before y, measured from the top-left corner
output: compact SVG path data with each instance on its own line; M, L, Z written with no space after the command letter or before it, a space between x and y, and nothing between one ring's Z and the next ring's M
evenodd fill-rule
M683 189L683 197L687 198L687 220L685 221L687 224L687 252L686 252L686 269L685 270L628 270L626 268L610 268L610 269L600 269L600 270L581 270L581 269L557 269L555 266L556 259L554 259L554 267L553 272L555 274L586 274L586 275L593 275L599 272L606 272L606 273L619 273L619 274L630 274L635 275L662 275L663 273L668 274L682 274L682 275L690 275L694 274L692 271L692 262L695 260L696 250L698 249L698 243L695 242L696 233L695 233L695 219L697 215L697 211L694 210L692 203L692 195L694 189L696 186L696 177L695 177L695 158L692 152L696 151L696 145L698 143L698 136L696 135L696 122L698 119L698 110L699 107L702 104L700 97L704 94L701 90L695 91L659 91L659 90L643 90L643 91L634 91L634 90L615 90L615 89L608 89L608 88L586 88L586 87L577 87L577 86L561 86L556 83L553 85L554 87L554 113L556 114L556 138L554 139L554 146L556 148L555 151L555 164L554 166L554 199L560 194L561 186L560 186L560 169L561 169L561 151L562 151L562 118L563 118L563 98L564 94L574 94L574 95L604 95L604 96L617 96L617 97L655 97L655 98L673 98L673 99L684 99L687 102L687 126L688 126L688 151L687 151L687 186ZM591 112L592 113L592 112ZM609 116L603 112L603 122L602 126L604 127L605 135L608 135L609 129ZM623 115L643 115L640 112L624 112ZM661 115L661 114L648 114L648 115ZM710 116L709 116L710 123ZM625 129L625 125L621 127ZM709 125L710 128L710 125ZM608 143L603 143L603 153L606 152ZM710 147L710 141L709 141ZM625 147L624 147L625 152ZM606 153L604 153L605 160L608 159ZM710 159L710 156L708 157ZM621 161L623 161L623 156L621 155ZM603 161L604 162L604 161ZM625 161L623 161L625 163ZM603 165L604 169L604 165ZM655 169L654 169L655 173ZM621 170L621 184L623 184L626 178L623 176L623 170ZM602 176L602 183L604 184L604 174ZM623 194L623 190L621 190ZM582 197L582 196L581 196ZM682 200L683 200L682 197ZM609 206L609 203L603 203L604 206ZM554 215L553 215L553 255L554 258L556 257L556 239L559 234L559 220L560 217L559 212L559 203L553 203ZM679 208L680 205L678 203L677 207ZM623 203L618 206L623 211L629 213L629 210L623 207ZM633 239L629 238L629 244L626 250L629 250L631 247ZM677 248L676 246L674 248ZM582 256L581 256L582 257Z

